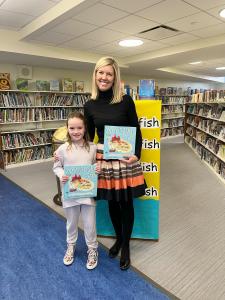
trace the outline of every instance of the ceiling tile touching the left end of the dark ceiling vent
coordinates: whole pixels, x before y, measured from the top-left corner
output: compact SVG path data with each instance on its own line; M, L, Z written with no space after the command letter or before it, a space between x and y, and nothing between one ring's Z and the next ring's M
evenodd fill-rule
M157 25L158 24L156 22L152 22L138 16L130 15L119 21L107 25L106 28L125 32L128 34L137 34L140 31L147 30Z

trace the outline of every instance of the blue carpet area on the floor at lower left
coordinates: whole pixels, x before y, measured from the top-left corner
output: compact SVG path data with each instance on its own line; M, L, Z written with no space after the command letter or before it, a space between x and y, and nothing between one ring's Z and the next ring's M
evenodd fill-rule
M0 175L0 299L169 299L132 269L121 271L99 246L99 265L86 269L79 235L74 264L63 265L65 220Z

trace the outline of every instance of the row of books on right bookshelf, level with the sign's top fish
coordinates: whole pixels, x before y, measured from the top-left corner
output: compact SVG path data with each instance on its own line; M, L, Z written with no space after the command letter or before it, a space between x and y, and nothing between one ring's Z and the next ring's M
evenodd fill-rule
M187 123L205 131L206 133L214 135L219 139L225 140L225 124L192 115L187 117Z

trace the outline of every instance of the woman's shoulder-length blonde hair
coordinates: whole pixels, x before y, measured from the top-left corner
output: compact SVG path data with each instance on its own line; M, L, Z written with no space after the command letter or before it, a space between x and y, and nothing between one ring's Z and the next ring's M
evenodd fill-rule
M92 91L91 98L96 100L99 94L98 86L96 84L96 73L97 71L105 66L112 66L114 70L114 83L112 86L113 90L113 98L111 103L119 103L122 101L122 90L121 90L121 82L120 82L120 69L118 63L115 61L113 57L102 57L100 58L94 68L93 76L92 76Z

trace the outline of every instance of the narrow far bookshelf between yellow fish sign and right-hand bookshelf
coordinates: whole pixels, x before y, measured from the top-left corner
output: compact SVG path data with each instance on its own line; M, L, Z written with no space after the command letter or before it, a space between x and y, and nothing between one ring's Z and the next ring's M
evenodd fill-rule
M184 133L185 102L188 96L162 95L161 138Z

